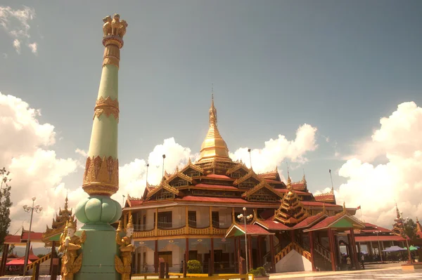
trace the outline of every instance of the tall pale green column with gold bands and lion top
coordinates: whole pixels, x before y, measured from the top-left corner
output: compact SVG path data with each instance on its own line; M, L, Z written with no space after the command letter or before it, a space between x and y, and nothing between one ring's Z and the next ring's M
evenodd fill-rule
M110 196L119 189L118 73L127 23L117 14L103 18L103 22L103 70L82 184L89 197L80 201L75 211L77 220L84 223L77 235L83 231L87 235L81 249L82 268L75 274L77 280L120 278L115 270L116 232L110 224L120 219L122 207Z

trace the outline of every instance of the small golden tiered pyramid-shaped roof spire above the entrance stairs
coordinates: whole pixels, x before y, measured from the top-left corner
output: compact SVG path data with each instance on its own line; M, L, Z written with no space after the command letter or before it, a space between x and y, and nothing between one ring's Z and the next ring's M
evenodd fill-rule
M290 176L288 177L287 188L289 192L281 199L281 206L274 214L274 220L283 222L283 224L297 224L302 220L305 220L309 216L309 213L300 201L298 194L291 186Z

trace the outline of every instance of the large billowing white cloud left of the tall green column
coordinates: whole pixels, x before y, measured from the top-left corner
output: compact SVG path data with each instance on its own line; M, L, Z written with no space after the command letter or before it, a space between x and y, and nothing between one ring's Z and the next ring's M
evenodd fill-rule
M0 166L11 171L12 224L14 233L24 225L29 227L29 214L22 206L30 204L37 196L37 204L43 206L40 214L34 214L33 229L42 231L51 225L58 207L63 206L66 192L70 205L76 205L84 195L82 189L65 189L63 178L74 172L74 159L61 159L51 149L56 133L51 124L39 124L39 110L12 95L0 93Z

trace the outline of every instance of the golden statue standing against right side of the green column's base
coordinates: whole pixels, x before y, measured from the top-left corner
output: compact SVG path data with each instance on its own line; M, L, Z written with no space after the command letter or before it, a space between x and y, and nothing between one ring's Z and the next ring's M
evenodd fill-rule
M132 271L132 252L135 251L132 245L132 234L134 233L134 224L132 214L129 213L129 222L127 222L126 235L120 238L122 232L122 221L119 222L116 232L116 243L120 245L120 258L115 255L116 271L122 274L122 280L129 280Z

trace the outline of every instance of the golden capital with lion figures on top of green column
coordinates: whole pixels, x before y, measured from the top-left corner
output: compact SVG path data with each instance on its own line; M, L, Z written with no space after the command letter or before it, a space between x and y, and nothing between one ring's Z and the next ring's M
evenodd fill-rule
M123 46L123 36L126 34L127 22L120 20L120 15L115 13L113 18L110 15L103 18L103 45L104 50L104 65L115 65L119 67L120 62L120 48Z

